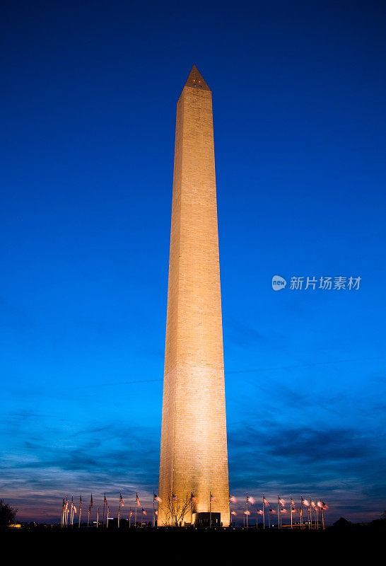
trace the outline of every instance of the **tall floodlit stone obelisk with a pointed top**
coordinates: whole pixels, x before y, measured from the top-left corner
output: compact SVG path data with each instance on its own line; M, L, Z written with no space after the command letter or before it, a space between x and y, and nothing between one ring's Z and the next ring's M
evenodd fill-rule
M193 521L229 525L212 101L195 66L177 103L158 526L172 496L189 524L191 494Z

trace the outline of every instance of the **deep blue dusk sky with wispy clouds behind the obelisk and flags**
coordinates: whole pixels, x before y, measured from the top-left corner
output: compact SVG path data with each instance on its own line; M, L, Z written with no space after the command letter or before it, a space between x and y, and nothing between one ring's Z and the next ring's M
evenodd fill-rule
M175 106L214 100L230 492L386 508L382 1L1 3L1 483L157 492ZM273 275L288 284L271 287ZM291 277L361 277L290 289ZM276 499L277 500L277 499Z

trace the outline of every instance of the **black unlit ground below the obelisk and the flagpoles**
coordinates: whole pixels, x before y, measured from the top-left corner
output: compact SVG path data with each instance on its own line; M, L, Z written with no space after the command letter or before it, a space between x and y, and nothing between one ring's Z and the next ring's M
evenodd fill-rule
M326 531L257 531L256 529L3 529L1 550L10 549L41 562L70 560L142 559L159 562L216 562L224 552L232 563L264 560L269 564L318 563L339 560L347 564L365 553L365 563L386 543L386 521L375 526L351 526ZM378 552L377 552L378 551ZM227 560L227 562L228 562ZM265 562L268 560L268 562ZM383 559L382 559L383 560ZM35 561L35 560L33 560ZM22 560L23 562L23 560Z

